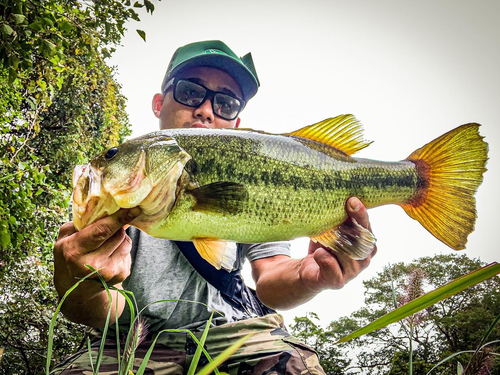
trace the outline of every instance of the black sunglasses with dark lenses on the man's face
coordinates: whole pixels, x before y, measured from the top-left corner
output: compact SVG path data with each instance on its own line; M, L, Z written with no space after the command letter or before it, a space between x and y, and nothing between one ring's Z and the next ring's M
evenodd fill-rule
M174 99L188 107L199 107L207 98L211 99L212 110L224 120L234 120L245 106L243 99L209 88L185 79L174 78L165 86L164 94L174 87Z

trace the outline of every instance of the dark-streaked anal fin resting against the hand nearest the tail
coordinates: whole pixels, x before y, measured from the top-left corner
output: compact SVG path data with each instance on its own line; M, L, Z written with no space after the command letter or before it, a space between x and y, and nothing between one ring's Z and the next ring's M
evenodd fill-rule
M356 260L368 257L375 249L377 242L373 233L363 228L354 219L313 237L311 240Z

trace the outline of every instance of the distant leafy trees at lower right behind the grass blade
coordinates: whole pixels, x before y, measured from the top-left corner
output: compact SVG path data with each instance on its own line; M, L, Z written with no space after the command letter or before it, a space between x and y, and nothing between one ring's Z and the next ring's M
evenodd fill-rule
M477 259L455 254L392 265L364 282L366 306L353 312L350 317L330 323L326 332L336 341L390 312L395 305L413 299L416 295L413 298L410 295L419 288L420 293L428 292L481 266ZM420 270L420 286L415 282L416 270ZM413 277L409 278L409 275ZM409 373L411 353L413 373L425 374L450 354L475 350L499 315L500 279L495 277L447 298L410 319L339 346L341 357L355 358L342 373L406 375ZM412 332L412 352L409 332ZM324 333L317 329L314 335L321 337ZM496 326L488 341L499 338L500 327ZM498 348L498 343L490 345L473 360L471 354L462 354L434 371L436 374L456 374L458 359L464 365L464 374L479 374L486 369L489 372L485 373L500 374L500 363L495 362L495 357L490 353L498 352Z

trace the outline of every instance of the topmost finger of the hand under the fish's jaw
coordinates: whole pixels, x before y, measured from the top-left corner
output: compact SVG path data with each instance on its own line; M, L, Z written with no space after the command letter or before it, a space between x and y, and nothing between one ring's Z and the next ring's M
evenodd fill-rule
M111 216L96 221L75 235L83 252L94 251L111 238L120 228L130 223L141 213L140 208L119 210Z

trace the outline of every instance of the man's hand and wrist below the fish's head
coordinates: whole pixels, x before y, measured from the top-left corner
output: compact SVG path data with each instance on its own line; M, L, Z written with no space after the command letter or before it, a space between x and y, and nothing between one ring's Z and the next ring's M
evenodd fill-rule
M127 278L132 244L123 227L139 214L139 208L120 210L79 232L72 222L61 227L54 245L54 284L60 298L78 279L91 272L86 265L100 269L100 275L110 285ZM120 299L121 296L115 294ZM112 306L113 321L123 309L120 303L115 314L115 305ZM102 285L87 281L71 292L62 310L70 320L99 328L105 321L108 307L108 296Z

